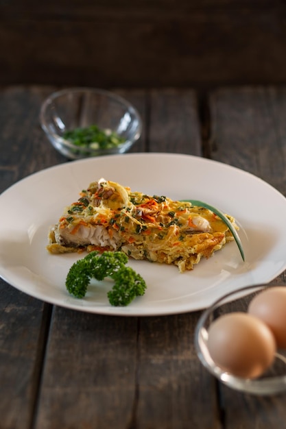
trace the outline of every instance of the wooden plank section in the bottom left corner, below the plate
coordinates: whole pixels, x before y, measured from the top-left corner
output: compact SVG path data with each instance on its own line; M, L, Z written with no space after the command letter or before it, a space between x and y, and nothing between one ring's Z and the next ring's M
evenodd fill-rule
M3 429L29 429L45 353L49 307L0 280L0 413Z

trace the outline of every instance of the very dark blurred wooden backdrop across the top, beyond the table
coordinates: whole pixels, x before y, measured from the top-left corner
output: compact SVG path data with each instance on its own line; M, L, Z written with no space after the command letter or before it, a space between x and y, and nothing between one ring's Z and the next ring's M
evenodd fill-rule
M285 82L285 0L0 0L0 84Z

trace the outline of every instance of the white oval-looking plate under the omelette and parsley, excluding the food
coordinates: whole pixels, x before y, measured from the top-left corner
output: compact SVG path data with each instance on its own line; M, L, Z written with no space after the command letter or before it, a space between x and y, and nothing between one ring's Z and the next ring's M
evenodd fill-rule
M71 297L64 281L83 255L51 255L49 225L90 182L106 180L132 191L199 199L233 215L240 226L246 262L228 243L193 271L130 260L147 291L128 307L112 307L110 282L92 285L84 299ZM270 282L286 268L286 199L258 177L226 164L178 154L125 154L67 162L14 184L0 196L0 275L45 302L106 315L170 315L200 310L230 291Z

